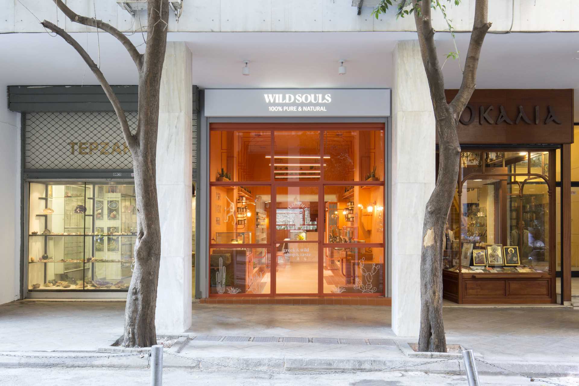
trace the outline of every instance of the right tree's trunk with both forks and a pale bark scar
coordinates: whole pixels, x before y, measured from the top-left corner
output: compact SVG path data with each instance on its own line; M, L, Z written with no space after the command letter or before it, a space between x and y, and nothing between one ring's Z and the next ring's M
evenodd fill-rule
M455 195L460 168L460 142L456 132L459 117L476 87L478 60L486 32L488 0L475 3L474 23L464 65L463 82L450 104L446 101L444 76L438 61L431 7L420 8L420 0L412 0L420 54L433 102L438 136L438 177L426 204L420 256L420 333L419 351L446 352L442 320L442 253L446 222ZM429 3L430 5L430 3Z

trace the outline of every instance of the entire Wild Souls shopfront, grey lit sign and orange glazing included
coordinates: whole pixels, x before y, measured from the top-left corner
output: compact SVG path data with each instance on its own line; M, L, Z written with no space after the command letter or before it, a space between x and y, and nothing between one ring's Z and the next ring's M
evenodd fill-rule
M388 296L389 115L390 90L206 90L201 293Z

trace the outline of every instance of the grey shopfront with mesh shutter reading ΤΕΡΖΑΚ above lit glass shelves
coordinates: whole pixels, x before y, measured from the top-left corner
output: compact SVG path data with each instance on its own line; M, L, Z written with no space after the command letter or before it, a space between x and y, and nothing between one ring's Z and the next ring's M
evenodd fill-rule
M134 130L137 87L114 88ZM102 88L12 86L9 105L21 113L23 296L123 298L137 237L133 159Z

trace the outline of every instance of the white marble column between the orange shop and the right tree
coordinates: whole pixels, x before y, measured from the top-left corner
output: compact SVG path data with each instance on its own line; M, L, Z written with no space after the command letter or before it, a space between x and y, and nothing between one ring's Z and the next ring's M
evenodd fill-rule
M392 329L398 336L417 336L422 222L435 183L435 121L418 42L398 42L392 67Z

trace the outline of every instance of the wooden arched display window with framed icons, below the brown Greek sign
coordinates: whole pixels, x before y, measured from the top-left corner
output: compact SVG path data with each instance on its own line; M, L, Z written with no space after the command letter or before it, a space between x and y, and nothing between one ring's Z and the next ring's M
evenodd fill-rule
M552 158L554 150L461 154L442 258L445 299L555 303Z

